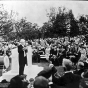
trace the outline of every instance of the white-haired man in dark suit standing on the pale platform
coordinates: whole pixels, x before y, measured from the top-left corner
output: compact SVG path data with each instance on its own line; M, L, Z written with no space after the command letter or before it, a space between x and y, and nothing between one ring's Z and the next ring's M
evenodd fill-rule
M27 65L27 48L25 47L25 40L20 40L20 45L18 46L19 53L19 75L23 75L25 64Z

